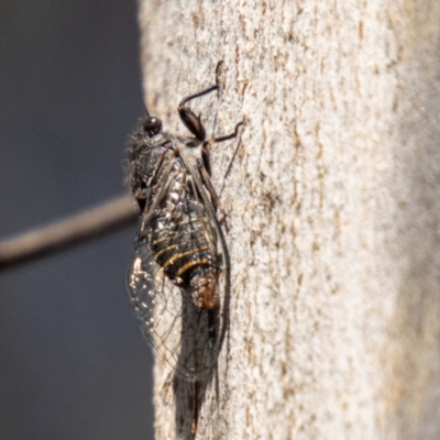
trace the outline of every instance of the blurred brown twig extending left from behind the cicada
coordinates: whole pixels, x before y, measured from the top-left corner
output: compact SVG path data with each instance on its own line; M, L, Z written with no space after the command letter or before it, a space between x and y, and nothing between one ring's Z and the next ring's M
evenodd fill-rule
M128 196L0 242L0 271L18 266L134 224L139 212Z

